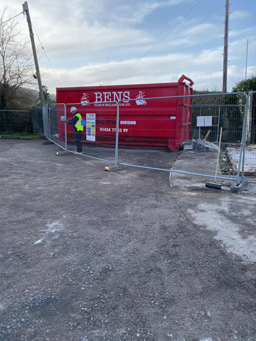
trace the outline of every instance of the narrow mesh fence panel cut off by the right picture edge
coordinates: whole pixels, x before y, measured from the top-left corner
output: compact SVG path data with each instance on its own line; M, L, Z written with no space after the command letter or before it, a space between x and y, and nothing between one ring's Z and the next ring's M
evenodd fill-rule
M242 179L256 184L256 91L248 95L246 109Z

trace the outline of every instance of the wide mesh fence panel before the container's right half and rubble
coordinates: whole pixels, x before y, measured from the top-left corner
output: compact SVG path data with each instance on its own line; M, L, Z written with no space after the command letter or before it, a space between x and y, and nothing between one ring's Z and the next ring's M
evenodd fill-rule
M219 177L236 180L240 165L230 164L227 148L241 146L245 113L241 97L246 99L239 93L120 101L118 163L170 171L178 155L188 150L197 153L197 160L206 152L215 152L217 162L216 142L222 127L223 172ZM214 177L214 171L204 174L200 166L196 173L193 169L185 173Z

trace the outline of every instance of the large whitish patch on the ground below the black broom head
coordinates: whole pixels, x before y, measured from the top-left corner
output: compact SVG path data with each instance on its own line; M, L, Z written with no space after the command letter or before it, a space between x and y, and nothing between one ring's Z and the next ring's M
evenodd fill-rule
M244 211L244 214L242 212L241 210L242 221L252 224L252 226L256 224L255 217L251 217L249 211ZM196 210L188 209L188 213L195 218L198 225L205 225L208 230L216 231L217 235L214 238L221 241L228 252L248 259L256 259L256 238L254 236L241 237L239 220L234 223L225 217L225 214L233 215L227 202L220 205L200 203Z

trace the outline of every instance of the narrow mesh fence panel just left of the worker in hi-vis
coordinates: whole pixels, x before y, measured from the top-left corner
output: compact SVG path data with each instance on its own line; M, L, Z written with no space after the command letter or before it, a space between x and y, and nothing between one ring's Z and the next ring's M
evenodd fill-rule
M48 104L50 141L66 149L66 106L65 104Z

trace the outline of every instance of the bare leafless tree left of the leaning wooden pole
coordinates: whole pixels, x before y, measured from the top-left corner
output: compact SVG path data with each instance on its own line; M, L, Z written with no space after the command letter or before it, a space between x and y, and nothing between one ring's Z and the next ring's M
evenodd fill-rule
M35 84L29 41L22 41L15 19L5 22L6 9L0 12L0 109L10 108L21 88Z

